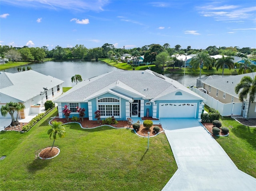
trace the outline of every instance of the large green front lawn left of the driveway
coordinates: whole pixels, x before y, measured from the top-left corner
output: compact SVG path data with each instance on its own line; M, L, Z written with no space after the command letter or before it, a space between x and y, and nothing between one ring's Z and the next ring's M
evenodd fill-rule
M0 155L7 156L0 161L0 190L159 191L177 169L164 134L150 138L147 151L147 138L107 126L84 130L78 124L65 125L66 136L55 142L60 154L38 159L52 145L48 120L24 134L0 132Z

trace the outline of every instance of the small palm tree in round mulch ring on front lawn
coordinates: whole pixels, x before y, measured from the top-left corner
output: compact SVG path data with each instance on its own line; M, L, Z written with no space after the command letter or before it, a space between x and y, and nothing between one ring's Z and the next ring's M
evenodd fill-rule
M52 122L52 128L50 128L47 131L47 134L50 136L50 139L53 137L53 143L52 143L52 148L54 146L54 142L57 138L57 134L60 138L63 138L66 134L65 128L62 126L62 122L58 122L58 121L53 121ZM51 148L51 150L52 150Z

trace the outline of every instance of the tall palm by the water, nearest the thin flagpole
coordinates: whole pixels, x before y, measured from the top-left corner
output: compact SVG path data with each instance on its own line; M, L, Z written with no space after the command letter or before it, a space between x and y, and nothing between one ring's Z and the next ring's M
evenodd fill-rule
M200 67L199 79L201 79L202 67L206 67L207 69L209 69L212 66L212 60L210 55L204 51L197 53L195 57L192 57L190 65L192 66L193 70L198 69L198 67Z

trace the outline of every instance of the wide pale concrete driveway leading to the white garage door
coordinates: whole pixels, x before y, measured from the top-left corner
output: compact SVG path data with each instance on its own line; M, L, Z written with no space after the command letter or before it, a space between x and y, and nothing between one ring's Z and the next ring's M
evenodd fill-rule
M240 171L193 118L161 118L178 170L162 191L255 191L256 179Z

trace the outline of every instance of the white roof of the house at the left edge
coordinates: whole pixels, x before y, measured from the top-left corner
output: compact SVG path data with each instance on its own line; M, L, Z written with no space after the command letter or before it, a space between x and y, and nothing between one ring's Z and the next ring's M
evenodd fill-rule
M21 101L29 100L44 91L64 83L64 81L46 76L33 70L18 73L0 72L0 93Z

